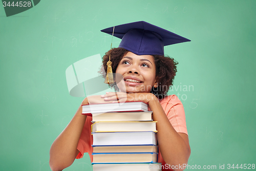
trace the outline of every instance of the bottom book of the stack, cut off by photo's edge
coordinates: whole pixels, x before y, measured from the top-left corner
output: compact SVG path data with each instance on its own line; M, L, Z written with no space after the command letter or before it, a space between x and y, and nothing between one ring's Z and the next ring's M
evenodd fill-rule
M94 164L93 171L160 171L161 163Z

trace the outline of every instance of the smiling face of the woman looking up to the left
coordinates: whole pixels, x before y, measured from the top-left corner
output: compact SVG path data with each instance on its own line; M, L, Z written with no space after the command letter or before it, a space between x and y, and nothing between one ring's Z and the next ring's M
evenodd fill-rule
M150 92L157 87L156 65L151 55L136 55L128 52L119 62L116 74L122 75L124 83L117 83L122 92Z

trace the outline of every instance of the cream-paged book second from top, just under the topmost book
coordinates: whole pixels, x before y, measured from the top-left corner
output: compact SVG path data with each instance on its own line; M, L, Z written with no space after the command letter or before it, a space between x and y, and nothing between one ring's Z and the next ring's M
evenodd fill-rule
M92 121L152 121L152 113L152 111L92 113Z

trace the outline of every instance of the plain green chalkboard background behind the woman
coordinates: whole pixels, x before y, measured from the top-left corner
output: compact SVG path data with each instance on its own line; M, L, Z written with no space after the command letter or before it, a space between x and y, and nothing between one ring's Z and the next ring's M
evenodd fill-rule
M188 170L256 164L255 1L35 4L8 17L0 6L1 170L50 170L50 146L84 98L70 95L66 70L110 49L100 30L140 20L191 40L164 49L179 62L168 94L184 105ZM112 46L119 43L114 37ZM92 170L89 155L65 170Z

